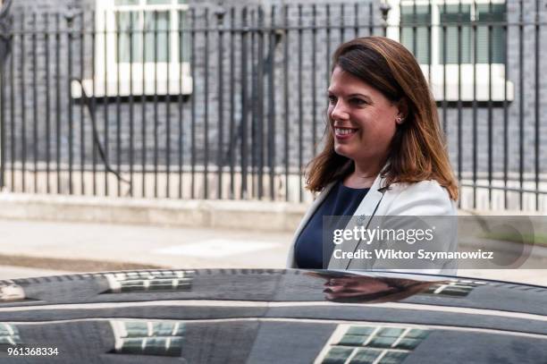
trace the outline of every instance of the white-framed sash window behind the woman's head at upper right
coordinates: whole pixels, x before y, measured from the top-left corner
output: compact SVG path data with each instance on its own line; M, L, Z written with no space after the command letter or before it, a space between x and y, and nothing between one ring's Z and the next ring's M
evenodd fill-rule
M392 27L387 35L416 55L437 100L513 99L513 84L505 80L505 3L392 0L390 4Z

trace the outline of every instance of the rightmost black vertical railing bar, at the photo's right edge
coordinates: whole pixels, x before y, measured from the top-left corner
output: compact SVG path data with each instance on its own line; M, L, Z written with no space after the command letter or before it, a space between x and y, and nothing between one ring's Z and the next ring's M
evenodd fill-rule
M541 128L541 121L540 121L540 107L541 107L541 99L540 99L540 1L535 0L535 126L534 126L534 174L535 174L535 210L539 211L539 188L540 188L540 128Z

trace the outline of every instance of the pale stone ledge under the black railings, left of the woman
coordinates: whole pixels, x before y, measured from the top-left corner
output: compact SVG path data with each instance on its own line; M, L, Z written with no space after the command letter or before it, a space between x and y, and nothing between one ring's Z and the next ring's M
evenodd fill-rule
M306 204L0 193L0 218L293 232Z

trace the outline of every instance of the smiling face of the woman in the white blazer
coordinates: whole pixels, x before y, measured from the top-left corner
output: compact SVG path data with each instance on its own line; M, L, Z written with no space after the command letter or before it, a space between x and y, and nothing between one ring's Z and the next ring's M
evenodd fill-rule
M328 89L334 150L359 163L383 163L395 134L399 107L339 66Z

